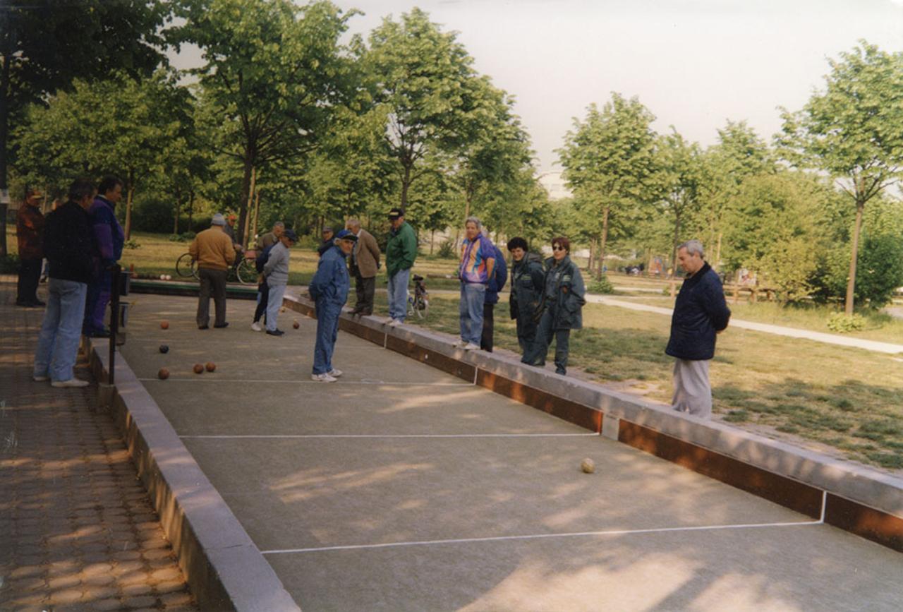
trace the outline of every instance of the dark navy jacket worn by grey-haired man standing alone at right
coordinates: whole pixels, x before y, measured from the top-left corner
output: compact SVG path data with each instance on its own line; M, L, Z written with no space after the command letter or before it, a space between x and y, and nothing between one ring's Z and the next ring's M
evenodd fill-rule
M728 326L731 310L724 301L721 278L703 264L684 280L671 316L671 338L665 353L678 359L703 360L715 355L715 333Z

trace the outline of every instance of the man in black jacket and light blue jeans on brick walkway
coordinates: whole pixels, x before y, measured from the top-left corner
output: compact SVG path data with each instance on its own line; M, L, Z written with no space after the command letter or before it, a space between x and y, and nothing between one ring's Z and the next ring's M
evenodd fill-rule
M94 280L97 245L88 217L94 185L78 180L69 188L69 201L47 215L44 255L50 262L47 309L34 353L33 378L54 387L85 387L75 378L81 322L85 315L88 283Z

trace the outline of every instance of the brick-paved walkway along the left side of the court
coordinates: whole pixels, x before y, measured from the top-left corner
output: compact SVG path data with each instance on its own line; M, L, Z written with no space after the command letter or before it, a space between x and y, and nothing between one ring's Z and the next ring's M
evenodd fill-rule
M31 380L43 311L14 293L0 283L0 610L198 609L96 385Z

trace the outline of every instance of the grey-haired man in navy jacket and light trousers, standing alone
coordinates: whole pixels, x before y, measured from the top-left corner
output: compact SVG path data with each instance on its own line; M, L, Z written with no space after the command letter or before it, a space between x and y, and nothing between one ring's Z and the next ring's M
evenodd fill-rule
M699 240L687 240L677 248L677 261L688 276L677 294L665 353L675 357L672 407L708 418L712 416L709 362L715 354L715 335L728 326L731 311L721 278L703 257Z

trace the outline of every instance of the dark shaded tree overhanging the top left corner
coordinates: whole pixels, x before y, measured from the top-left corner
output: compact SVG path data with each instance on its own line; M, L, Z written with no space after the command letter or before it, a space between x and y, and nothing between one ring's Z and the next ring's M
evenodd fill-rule
M9 127L74 79L110 71L150 74L163 61L160 31L169 3L158 0L5 0L0 3L0 257L6 255Z

